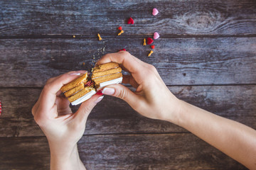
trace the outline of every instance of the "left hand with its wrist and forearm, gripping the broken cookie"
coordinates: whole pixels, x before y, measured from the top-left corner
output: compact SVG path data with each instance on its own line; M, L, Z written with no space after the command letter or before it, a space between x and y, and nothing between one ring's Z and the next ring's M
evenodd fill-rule
M79 159L77 142L85 131L90 111L102 100L102 96L92 96L82 103L76 113L72 113L68 98L59 96L61 86L82 73L85 72L69 72L49 79L32 108L34 119L49 142L51 169L85 169Z

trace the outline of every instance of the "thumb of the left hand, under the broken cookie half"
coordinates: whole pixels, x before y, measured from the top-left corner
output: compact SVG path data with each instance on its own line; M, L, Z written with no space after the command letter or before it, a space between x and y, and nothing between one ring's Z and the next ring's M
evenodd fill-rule
M103 96L100 95L93 95L90 99L88 99L87 101L82 102L80 108L78 109L78 111L75 113L75 118L78 121L86 121L88 115L90 114L90 112L92 111L92 108L94 108L96 106L96 104L98 102L100 102L102 100Z

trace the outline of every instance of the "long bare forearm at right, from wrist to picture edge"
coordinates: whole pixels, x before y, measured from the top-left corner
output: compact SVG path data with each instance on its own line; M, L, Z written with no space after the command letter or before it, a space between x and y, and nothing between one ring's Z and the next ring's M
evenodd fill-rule
M228 156L256 169L256 131L241 123L222 118L181 101L177 125L220 149Z

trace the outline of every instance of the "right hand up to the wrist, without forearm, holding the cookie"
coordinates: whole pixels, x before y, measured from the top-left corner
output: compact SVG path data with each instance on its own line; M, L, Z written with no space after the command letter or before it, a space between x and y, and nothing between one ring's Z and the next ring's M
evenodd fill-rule
M138 113L153 119L175 123L181 102L166 87L156 68L129 52L116 52L103 56L97 64L117 62L131 75L123 75L124 84L131 84L136 91L122 84L106 86L102 93L126 101Z

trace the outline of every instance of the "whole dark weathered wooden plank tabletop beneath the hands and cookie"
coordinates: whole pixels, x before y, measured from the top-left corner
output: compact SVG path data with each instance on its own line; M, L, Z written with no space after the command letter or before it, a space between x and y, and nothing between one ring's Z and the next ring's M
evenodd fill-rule
M147 57L143 38L155 31L161 38ZM31 115L46 80L90 70L93 58L122 48L153 64L178 98L256 128L256 1L5 0L0 169L49 169L48 142ZM246 169L183 128L144 118L110 96L90 114L78 147L87 169Z

